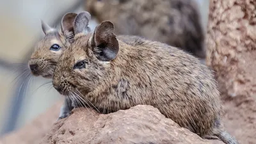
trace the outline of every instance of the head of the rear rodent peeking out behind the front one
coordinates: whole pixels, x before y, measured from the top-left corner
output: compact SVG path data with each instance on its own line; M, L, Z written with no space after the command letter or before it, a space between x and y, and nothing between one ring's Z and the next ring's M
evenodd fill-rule
M76 13L66 13L61 20L61 31L42 22L45 36L35 46L29 60L29 68L34 76L52 77L61 53L74 38Z

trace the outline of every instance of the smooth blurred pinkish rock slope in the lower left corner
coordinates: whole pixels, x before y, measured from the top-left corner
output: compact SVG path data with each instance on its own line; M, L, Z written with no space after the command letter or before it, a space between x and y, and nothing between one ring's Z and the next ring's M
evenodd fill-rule
M54 104L41 115L38 115L32 122L24 125L21 129L6 134L0 139L0 144L37 144L40 143L45 134L51 129L52 125L60 113L63 100Z

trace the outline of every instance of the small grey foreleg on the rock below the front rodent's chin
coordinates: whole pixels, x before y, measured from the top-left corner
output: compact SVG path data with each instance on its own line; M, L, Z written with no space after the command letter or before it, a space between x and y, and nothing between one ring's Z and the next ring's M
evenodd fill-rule
M70 115L70 112L72 111L72 109L74 109L72 101L70 101L70 99L66 98L63 106L61 106L60 116L59 116L58 120L68 117Z

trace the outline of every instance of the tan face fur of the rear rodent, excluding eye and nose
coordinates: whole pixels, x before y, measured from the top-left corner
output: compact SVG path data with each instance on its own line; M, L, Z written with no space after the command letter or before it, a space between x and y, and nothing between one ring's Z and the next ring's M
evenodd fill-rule
M44 38L35 45L35 50L31 54L29 65L38 65L38 72L32 74L52 78L54 68L56 67L61 53L64 51L66 45L72 42L73 38L74 34L72 32L65 32L65 34L63 34L57 29L47 33ZM60 45L60 51L51 51L50 47L53 44Z

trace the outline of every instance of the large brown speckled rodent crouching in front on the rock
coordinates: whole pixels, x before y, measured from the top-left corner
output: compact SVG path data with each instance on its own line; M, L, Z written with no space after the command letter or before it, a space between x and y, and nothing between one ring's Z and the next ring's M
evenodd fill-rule
M207 66L161 42L138 36L125 42L127 36L118 38L110 21L84 33L80 19L88 15L79 15L74 42L61 54L52 79L61 95L101 113L151 105L202 138L237 143L220 128L220 92Z

